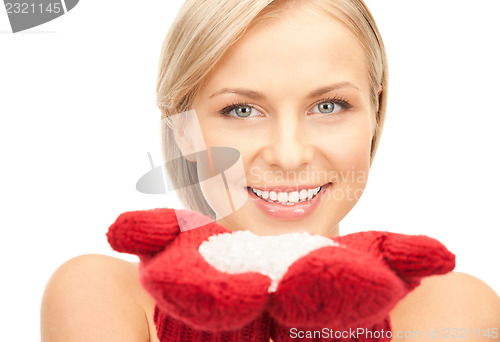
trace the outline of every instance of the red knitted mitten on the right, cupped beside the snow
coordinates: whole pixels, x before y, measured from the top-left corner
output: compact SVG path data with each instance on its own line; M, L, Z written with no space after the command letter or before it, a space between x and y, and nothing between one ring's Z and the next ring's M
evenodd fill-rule
M397 302L423 277L455 266L455 256L427 236L370 231L332 240L338 246L297 260L271 294L268 311L275 320L275 342L294 340L292 328L331 329L343 334L342 341L390 341L390 334L381 330L390 330L389 313ZM303 340L332 341L334 336Z

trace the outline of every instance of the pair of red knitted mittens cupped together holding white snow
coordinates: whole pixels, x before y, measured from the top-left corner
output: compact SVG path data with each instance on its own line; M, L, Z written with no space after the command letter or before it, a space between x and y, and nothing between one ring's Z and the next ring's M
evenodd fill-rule
M179 223L200 228L181 234ZM293 340L291 328L387 331L390 311L423 277L455 266L455 256L427 236L360 232L332 238L336 246L296 260L269 293L267 276L221 272L199 253L210 236L230 232L203 215L173 209L123 213L110 226L113 249L140 257L160 341L283 342ZM373 336L338 341L390 340Z

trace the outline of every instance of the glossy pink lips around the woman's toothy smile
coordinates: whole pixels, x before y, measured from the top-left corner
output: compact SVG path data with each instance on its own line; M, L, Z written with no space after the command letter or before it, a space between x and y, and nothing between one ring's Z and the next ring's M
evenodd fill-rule
M314 211L314 209L316 209L316 207L319 205L321 198L323 197L323 194L330 188L331 185L332 183L327 183L323 185L321 190L311 200L299 202L297 204L290 206L285 206L279 203L267 202L266 200L263 200L256 194L254 194L249 187L247 187L247 191L250 199L257 206L257 208L259 208L259 210L262 211L265 215L281 221L295 221L310 215ZM302 187L302 188L311 189L307 187ZM287 187L279 187L279 189L287 189ZM297 186L288 187L288 189L297 190L301 189L301 187ZM265 191L266 190L267 189L265 189ZM276 191L276 190L267 190L267 191Z

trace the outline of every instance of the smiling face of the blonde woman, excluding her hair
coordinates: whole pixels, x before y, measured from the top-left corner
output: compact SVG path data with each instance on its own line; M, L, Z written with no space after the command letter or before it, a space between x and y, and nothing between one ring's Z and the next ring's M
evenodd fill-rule
M248 194L230 215L217 208L226 189L201 184L220 224L338 234L365 188L375 128L365 57L347 28L300 8L266 19L228 50L193 108L206 146L235 148L244 165L244 181L227 179L233 196Z

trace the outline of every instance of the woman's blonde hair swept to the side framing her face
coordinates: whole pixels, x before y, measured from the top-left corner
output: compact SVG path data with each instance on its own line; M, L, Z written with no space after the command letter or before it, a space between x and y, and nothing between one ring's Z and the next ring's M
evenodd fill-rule
M382 38L362 0L187 0L163 42L156 94L166 123L162 142L169 161L167 172L179 200L188 209L215 217L202 195L196 163L183 158L175 142L170 117L191 109L208 73L249 27L276 17L297 2L311 4L340 20L361 43L368 63L371 102L376 109L373 161L385 119L388 71Z

